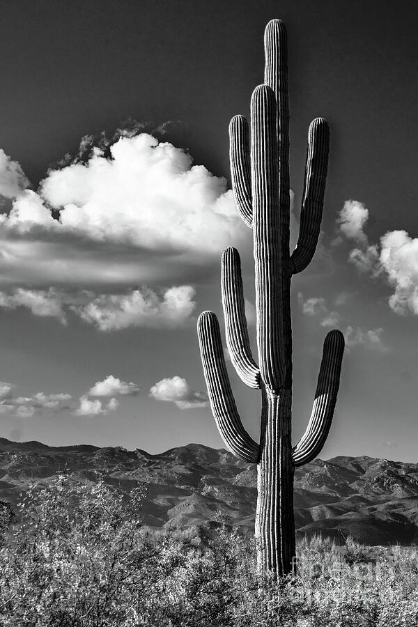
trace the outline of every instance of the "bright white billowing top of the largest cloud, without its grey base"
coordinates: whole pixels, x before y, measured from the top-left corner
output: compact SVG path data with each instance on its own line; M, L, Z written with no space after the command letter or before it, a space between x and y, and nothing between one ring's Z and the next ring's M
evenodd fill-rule
M87 164L51 171L42 182L64 227L149 249L219 250L236 221L224 178L146 133L121 137L110 152L111 160L95 148Z

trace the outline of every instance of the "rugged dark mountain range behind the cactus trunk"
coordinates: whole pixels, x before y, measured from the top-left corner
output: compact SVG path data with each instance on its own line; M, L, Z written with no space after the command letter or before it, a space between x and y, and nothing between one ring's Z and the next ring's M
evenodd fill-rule
M103 479L127 493L146 484L151 527L189 529L215 520L253 533L256 467L224 449L188 444L158 455L122 447L48 447L0 438L0 499L12 506L29 483L45 486L58 472L75 481ZM295 471L297 534L369 545L418 542L418 465L371 457L320 459Z

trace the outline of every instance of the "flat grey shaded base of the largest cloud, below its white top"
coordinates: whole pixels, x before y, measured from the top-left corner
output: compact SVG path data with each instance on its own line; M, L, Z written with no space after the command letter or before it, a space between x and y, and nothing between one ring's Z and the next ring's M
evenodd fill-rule
M181 277L203 277L208 265L186 254L157 254L130 245L94 242L82 235L42 226L15 233L1 226L0 286L132 286L157 281L175 282ZM55 224L59 224L54 221ZM33 227L33 228L32 228ZM215 259L215 258L214 258ZM214 263L214 259L211 263ZM209 263L209 262L208 262Z

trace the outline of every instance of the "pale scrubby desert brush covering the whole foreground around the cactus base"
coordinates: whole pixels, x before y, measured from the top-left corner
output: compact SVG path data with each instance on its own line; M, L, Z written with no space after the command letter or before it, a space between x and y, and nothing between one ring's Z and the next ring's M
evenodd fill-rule
M57 475L15 522L1 504L4 627L401 627L418 621L418 551L297 543L295 572L256 574L252 539L219 520L194 537L151 533L144 490Z

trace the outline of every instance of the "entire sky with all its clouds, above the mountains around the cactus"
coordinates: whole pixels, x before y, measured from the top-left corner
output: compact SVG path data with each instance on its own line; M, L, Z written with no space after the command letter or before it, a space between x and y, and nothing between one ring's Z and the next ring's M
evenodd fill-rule
M415 3L16 0L0 7L0 435L158 453L222 447L196 318L222 318L235 210L228 125L286 23L292 240L309 122L330 124L320 244L293 279L293 435L325 334L346 336L322 458L417 462ZM260 398L229 371L249 433Z

